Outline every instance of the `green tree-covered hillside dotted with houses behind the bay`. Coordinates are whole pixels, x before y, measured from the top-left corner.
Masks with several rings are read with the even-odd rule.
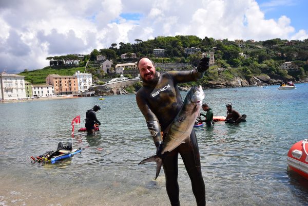
[[[194,35],[178,36],[158,36],[153,40],[136,43],[113,43],[109,48],[93,49],[81,60],[79,67],[63,66],[64,60],[75,60],[74,55],[60,57],[47,57],[51,67],[37,69],[34,71],[24,71],[20,75],[25,76],[25,80],[33,84],[45,83],[48,74],[73,75],[74,72],[92,73],[95,80],[107,78],[112,75],[114,67],[110,68],[110,73],[97,73],[99,67],[91,67],[97,55],[105,55],[113,62],[113,66],[118,63],[136,62],[138,58],[147,56],[154,62],[189,63],[196,66],[202,52],[215,52],[215,65],[211,66],[205,74],[201,83],[206,86],[209,81],[228,81],[234,77],[250,79],[252,76],[267,74],[271,78],[280,80],[302,80],[308,77],[308,39],[281,40],[273,39],[255,42],[252,40],[242,41],[243,46],[239,46],[236,41],[215,40],[213,38],[200,39]],[[185,53],[185,48],[196,47],[201,51],[196,54]],[[165,58],[157,58],[153,54],[153,49],[165,49]],[[121,54],[126,53],[128,59],[121,59]],[[137,58],[132,58],[136,54]],[[245,54],[248,58],[243,57]],[[89,62],[85,71],[85,62]],[[280,66],[284,62],[293,62],[298,69],[286,70]],[[160,70],[161,68],[158,68]],[[222,69],[222,70],[221,70]]]

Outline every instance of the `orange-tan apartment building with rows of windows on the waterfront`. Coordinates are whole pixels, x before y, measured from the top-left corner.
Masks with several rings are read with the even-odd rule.
[[[45,79],[46,84],[52,85],[54,95],[69,95],[78,93],[78,79],[75,76],[60,76],[49,74]]]

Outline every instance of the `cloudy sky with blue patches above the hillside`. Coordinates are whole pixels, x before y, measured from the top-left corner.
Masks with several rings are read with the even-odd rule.
[[[304,40],[307,8],[306,0],[0,0],[0,72],[156,36]]]

